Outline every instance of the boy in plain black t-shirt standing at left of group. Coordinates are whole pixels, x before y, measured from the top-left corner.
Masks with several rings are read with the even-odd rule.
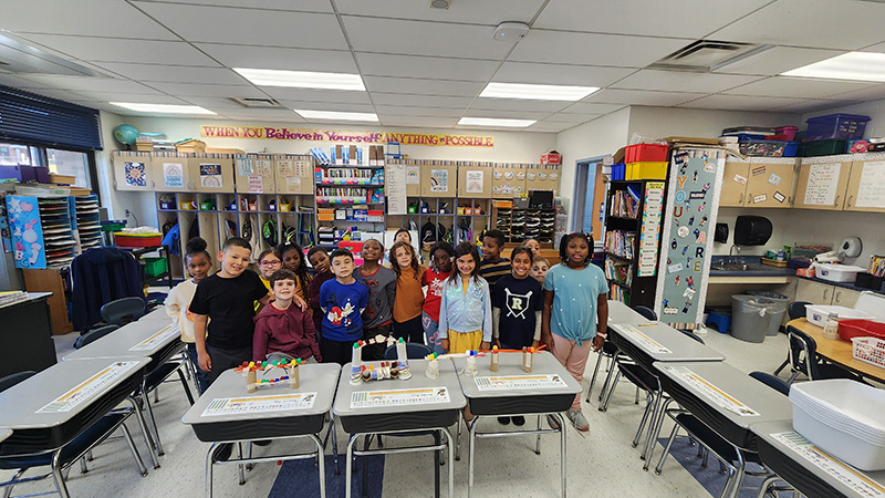
[[[209,373],[210,384],[223,371],[252,360],[254,301],[267,304],[269,294],[258,274],[246,268],[251,253],[252,247],[241,238],[225,241],[218,252],[221,270],[200,281],[190,302],[199,365]],[[301,298],[293,302],[306,309]]]

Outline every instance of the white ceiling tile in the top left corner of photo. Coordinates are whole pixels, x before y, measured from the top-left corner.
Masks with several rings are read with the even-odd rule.
[[[175,40],[175,34],[118,0],[3,1],[3,30],[13,33]]]

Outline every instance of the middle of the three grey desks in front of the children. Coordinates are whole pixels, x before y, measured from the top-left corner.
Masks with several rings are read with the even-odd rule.
[[[364,365],[375,366],[378,363],[363,362]],[[449,454],[449,498],[455,496],[455,454],[448,427],[459,421],[461,408],[467,403],[461,394],[455,366],[450,361],[439,361],[439,377],[428,378],[425,375],[427,361],[409,360],[408,364],[412,378],[407,381],[371,381],[357,385],[351,385],[350,363],[341,370],[339,392],[332,411],[341,421],[344,432],[351,435],[347,442],[347,481],[344,488],[346,498],[351,498],[354,455],[439,452],[447,448]],[[354,444],[360,436],[367,437],[373,434],[426,435],[430,432],[445,434],[446,442],[406,448],[375,450],[366,448],[363,452],[354,449]],[[438,495],[439,465],[436,465],[434,473]]]

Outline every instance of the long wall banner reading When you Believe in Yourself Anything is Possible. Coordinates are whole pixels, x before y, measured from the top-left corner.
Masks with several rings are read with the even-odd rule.
[[[493,136],[434,135],[424,133],[342,132],[337,129],[302,129],[275,126],[201,125],[202,138],[253,138],[269,141],[343,142],[347,144],[425,145],[430,147],[494,147]]]

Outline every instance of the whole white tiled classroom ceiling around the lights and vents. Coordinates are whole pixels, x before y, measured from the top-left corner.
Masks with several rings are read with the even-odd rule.
[[[0,84],[123,115],[110,102],[198,105],[299,124],[291,110],[377,114],[382,125],[467,128],[537,120],[561,132],[627,105],[803,113],[885,98],[885,84],[780,73],[885,52],[876,0],[4,0],[0,35],[96,73],[9,73]],[[834,21],[839,20],[835,24]],[[504,21],[530,25],[492,39]],[[767,50],[705,73],[649,69],[697,41]],[[365,92],[257,86],[232,68],[360,74]],[[580,102],[479,97],[489,82],[598,86]],[[274,98],[242,108],[225,97]],[[327,122],[325,122],[327,123]]]

